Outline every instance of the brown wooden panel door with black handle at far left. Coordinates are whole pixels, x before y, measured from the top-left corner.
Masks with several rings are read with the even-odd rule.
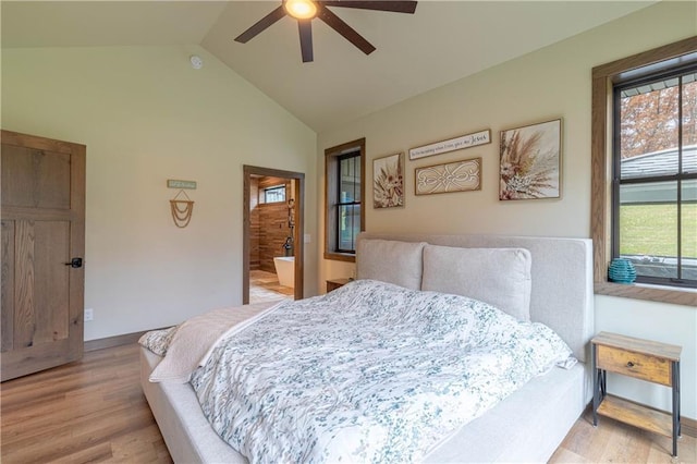
[[[82,357],[85,146],[1,135],[4,381]]]

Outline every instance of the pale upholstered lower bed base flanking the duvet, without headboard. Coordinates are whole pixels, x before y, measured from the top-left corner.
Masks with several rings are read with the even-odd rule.
[[[175,462],[247,462],[210,427],[189,383],[149,382],[162,358],[144,347],[140,358],[143,390]],[[588,370],[578,363],[533,379],[447,437],[425,462],[548,461],[588,404]]]

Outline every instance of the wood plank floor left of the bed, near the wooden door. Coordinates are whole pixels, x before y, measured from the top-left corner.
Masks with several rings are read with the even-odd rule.
[[[139,386],[138,345],[0,386],[0,461],[171,463]]]

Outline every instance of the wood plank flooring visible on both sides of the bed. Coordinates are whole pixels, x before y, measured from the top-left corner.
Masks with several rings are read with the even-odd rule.
[[[1,453],[14,463],[170,463],[139,384],[138,345],[88,352],[81,362],[0,387]],[[579,418],[551,463],[695,463],[695,438],[678,460],[669,438],[612,419]]]

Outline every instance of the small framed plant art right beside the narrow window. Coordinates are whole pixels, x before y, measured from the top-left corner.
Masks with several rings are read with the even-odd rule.
[[[404,206],[404,154],[372,160],[372,207]]]

